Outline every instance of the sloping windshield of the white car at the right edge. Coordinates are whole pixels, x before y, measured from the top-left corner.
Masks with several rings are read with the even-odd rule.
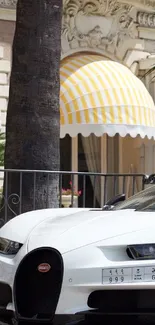
[[[155,211],[155,185],[147,187],[144,191],[136,193],[124,202],[116,205],[113,210],[134,209],[137,211]]]

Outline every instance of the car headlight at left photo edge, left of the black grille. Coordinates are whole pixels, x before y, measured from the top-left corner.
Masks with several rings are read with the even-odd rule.
[[[0,237],[0,253],[1,254],[16,255],[21,247],[22,247],[22,244],[20,244],[20,243]]]

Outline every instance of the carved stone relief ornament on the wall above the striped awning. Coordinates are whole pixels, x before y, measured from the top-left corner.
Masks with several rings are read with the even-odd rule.
[[[110,48],[137,37],[133,6],[115,0],[65,0],[62,53],[77,48]]]

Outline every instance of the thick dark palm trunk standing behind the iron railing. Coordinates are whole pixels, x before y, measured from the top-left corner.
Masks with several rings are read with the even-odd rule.
[[[61,18],[62,0],[18,0],[5,169],[59,170]],[[58,206],[58,175],[25,172],[21,180],[8,173],[6,186],[9,211],[15,211],[13,194],[20,195],[22,212]]]

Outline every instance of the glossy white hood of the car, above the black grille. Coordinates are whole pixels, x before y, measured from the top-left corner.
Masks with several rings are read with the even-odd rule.
[[[134,210],[82,210],[49,217],[31,231],[27,247],[58,249],[61,254],[95,243],[120,245],[155,242],[155,213]]]

